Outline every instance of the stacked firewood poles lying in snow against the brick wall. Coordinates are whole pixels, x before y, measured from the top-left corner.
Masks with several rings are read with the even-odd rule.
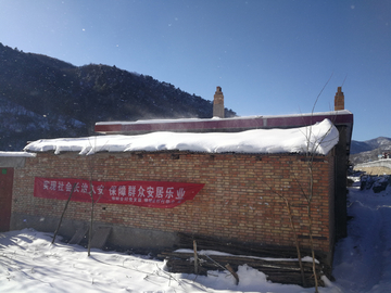
[[[210,270],[228,270],[237,279],[238,277],[235,275],[238,267],[248,265],[265,273],[267,280],[272,282],[299,284],[305,288],[315,285],[312,262],[303,262],[302,271],[294,250],[256,247],[188,234],[180,234],[179,237],[181,240],[180,249],[191,249],[192,251],[162,253],[160,256],[167,260],[167,268],[171,272],[206,275]],[[197,250],[194,250],[194,243],[197,243]],[[225,252],[226,254],[200,253],[200,251],[206,250]],[[323,275],[327,276],[330,268],[316,264],[316,271],[318,284],[323,285],[319,278]],[[240,280],[237,279],[237,282]]]

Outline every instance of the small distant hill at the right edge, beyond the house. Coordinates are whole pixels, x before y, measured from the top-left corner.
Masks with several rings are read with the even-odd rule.
[[[350,161],[360,164],[378,160],[383,152],[391,152],[391,138],[379,137],[367,141],[355,141],[351,143]]]

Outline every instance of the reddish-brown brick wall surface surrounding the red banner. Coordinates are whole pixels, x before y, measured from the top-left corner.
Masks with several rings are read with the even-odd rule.
[[[179,156],[177,156],[179,155]],[[315,157],[312,205],[315,249],[330,251],[329,207],[333,157]],[[97,204],[96,220],[168,232],[189,232],[247,242],[294,245],[286,204],[299,239],[308,246],[307,164],[303,156],[275,154],[99,153],[78,156],[39,153],[15,170],[12,212],[60,217],[64,202],[34,198],[34,178],[152,180],[205,183],[194,198],[175,208]],[[103,209],[105,207],[105,209]],[[333,207],[332,207],[333,208]],[[71,202],[66,218],[88,220],[90,204]],[[332,212],[332,211],[331,211]]]

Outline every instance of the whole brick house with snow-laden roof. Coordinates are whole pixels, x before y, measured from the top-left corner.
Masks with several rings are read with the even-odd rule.
[[[340,94],[339,89],[337,95]],[[218,95],[220,103],[222,97]],[[286,131],[279,132],[282,145],[287,140],[283,133],[303,135],[300,129],[306,129],[305,127],[325,118],[332,122],[338,135],[330,150],[313,156],[312,214],[314,246],[331,263],[336,239],[343,237],[346,226],[345,171],[353,127],[353,115],[349,111],[165,123],[98,123],[96,131],[106,135],[126,133],[135,140],[156,133],[161,133],[164,139],[164,133],[160,131],[185,132],[177,133],[179,137],[195,137],[197,132],[200,139],[211,136],[211,132],[218,132],[212,136],[219,136],[226,131],[230,138],[244,136],[245,141],[250,133],[247,130],[266,131],[265,129],[277,128],[279,131]],[[266,132],[256,133],[264,136]],[[87,182],[93,180],[97,183],[97,194],[98,183],[111,182],[112,187],[116,188],[115,192],[119,192],[119,187],[126,186],[125,195],[111,196],[114,202],[110,199],[106,202],[98,201],[94,207],[96,227],[110,227],[109,242],[116,245],[171,247],[178,243],[178,232],[184,232],[225,241],[290,247],[294,245],[290,220],[285,202],[278,195],[283,194],[289,198],[292,205],[300,245],[308,247],[308,219],[303,196],[303,189],[308,186],[306,153],[283,148],[274,152],[265,151],[266,149],[256,151],[255,146],[251,149],[251,145],[247,144],[245,148],[251,150],[245,152],[235,151],[235,145],[220,152],[213,151],[213,148],[192,150],[178,146],[184,145],[184,142],[163,149],[141,144],[138,148],[134,146],[140,143],[139,141],[127,142],[128,146],[134,149],[124,151],[118,149],[118,144],[110,144],[112,136],[99,138],[106,139],[106,142],[101,144],[103,146],[100,150],[96,149],[94,154],[87,156],[80,153],[86,154],[91,148],[77,149],[66,140],[38,141],[26,146],[26,150],[35,155],[24,157],[23,164],[13,168],[10,229],[31,227],[41,231],[54,231],[68,193],[64,192],[65,198],[61,199],[55,198],[56,195],[50,198],[50,194],[54,193],[41,196],[37,193],[37,182],[39,178],[55,182],[56,186],[52,187],[45,187],[43,183],[42,190],[46,188],[49,191],[59,189],[60,182],[66,183],[77,179]],[[156,138],[153,140],[156,141]],[[202,143],[200,145],[207,146]],[[130,201],[131,196],[130,196],[130,187],[140,184],[137,189],[146,190],[144,195],[148,198],[147,186],[155,184],[155,192],[163,182],[168,186],[172,182],[178,183],[177,194],[182,188],[180,183],[202,184],[202,189],[190,200],[169,208],[115,202],[116,199],[125,201],[126,198]],[[80,188],[81,183],[80,181]],[[174,184],[168,186],[166,190],[174,190]],[[81,190],[78,192],[83,193]],[[71,238],[76,230],[87,225],[91,203],[88,202],[88,193],[86,196],[87,200],[70,202],[61,234]]]

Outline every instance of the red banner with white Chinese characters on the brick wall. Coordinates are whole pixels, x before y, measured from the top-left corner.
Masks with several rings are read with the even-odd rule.
[[[164,181],[89,181],[72,178],[35,178],[34,196],[108,204],[168,208],[194,199],[204,184]]]

